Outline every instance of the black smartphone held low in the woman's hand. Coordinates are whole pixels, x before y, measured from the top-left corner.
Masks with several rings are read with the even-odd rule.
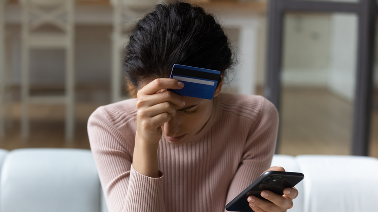
[[[252,182],[244,191],[237,195],[226,205],[227,211],[237,212],[253,212],[249,206],[247,198],[255,196],[265,199],[260,196],[263,190],[272,191],[278,195],[284,195],[285,188],[292,188],[298,182],[303,180],[304,175],[299,172],[287,171],[267,171],[262,174],[257,180]]]

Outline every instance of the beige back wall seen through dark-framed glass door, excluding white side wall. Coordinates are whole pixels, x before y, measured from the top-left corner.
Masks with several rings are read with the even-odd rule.
[[[329,15],[286,15],[283,38],[283,84],[327,85],[330,45]]]

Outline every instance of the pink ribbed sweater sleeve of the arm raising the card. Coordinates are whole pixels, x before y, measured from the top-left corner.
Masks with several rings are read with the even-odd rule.
[[[163,177],[150,178],[132,167],[135,133],[127,121],[133,120],[115,119],[120,123],[110,117],[99,107],[88,120],[91,150],[109,212],[163,212]]]

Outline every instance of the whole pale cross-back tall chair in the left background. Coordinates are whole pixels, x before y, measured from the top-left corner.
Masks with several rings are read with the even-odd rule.
[[[75,128],[74,72],[75,0],[22,0],[21,47],[21,136],[29,137],[30,104],[65,104],[65,137],[72,140]],[[46,30],[49,27],[49,30]],[[51,28],[54,28],[51,31]],[[65,49],[63,95],[32,96],[30,92],[30,50]],[[54,70],[52,70],[54,71]]]

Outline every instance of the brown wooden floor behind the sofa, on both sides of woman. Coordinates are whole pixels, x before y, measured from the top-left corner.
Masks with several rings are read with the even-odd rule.
[[[282,96],[281,143],[279,153],[350,154],[352,105],[329,91],[285,89]],[[86,124],[95,108],[105,103],[78,103],[76,134],[64,140],[64,106],[32,106],[29,140],[20,136],[20,106],[12,104],[10,124],[0,139],[0,148],[79,148],[89,149]],[[378,109],[372,113],[369,155],[378,157]]]

